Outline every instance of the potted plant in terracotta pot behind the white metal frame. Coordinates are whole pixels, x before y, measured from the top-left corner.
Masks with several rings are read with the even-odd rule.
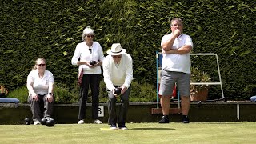
[[[210,75],[198,70],[197,67],[191,67],[190,82],[210,82]],[[190,85],[191,101],[206,101],[208,98],[209,85]]]

